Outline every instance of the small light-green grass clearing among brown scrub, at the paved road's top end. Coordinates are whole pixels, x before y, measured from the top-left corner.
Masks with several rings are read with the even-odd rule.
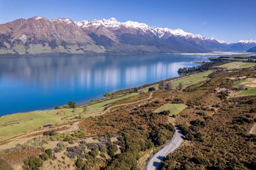
[[[162,107],[156,109],[154,112],[159,113],[159,112],[164,111],[164,110],[170,110],[169,122],[174,123],[171,116],[173,114],[174,115],[179,114],[186,107],[188,107],[188,106],[183,105],[183,104],[166,104],[166,105],[163,105]]]

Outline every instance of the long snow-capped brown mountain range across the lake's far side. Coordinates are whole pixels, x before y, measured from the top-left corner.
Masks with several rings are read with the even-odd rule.
[[[32,17],[0,24],[0,55],[65,55],[246,51],[256,41],[227,44],[182,29],[115,18],[73,21]]]

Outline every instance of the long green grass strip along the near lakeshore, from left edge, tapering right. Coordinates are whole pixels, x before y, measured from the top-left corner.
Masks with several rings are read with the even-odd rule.
[[[83,108],[75,109],[53,109],[43,111],[32,111],[26,113],[14,113],[0,117],[0,141],[18,136],[21,133],[37,129],[45,124],[65,123],[76,120],[74,115],[81,117],[95,116],[104,111],[105,105],[132,96],[139,93],[131,93],[122,97],[117,97],[108,101],[96,103],[87,106],[84,112]]]

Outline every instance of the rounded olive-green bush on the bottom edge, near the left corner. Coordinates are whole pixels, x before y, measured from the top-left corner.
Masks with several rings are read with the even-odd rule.
[[[22,166],[22,168],[25,170],[39,170],[42,166],[42,159],[37,158],[35,156],[31,156],[24,161],[24,165]]]

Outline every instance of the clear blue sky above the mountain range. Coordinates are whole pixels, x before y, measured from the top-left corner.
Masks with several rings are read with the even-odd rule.
[[[115,17],[224,40],[256,40],[256,0],[0,0],[0,23],[44,16]]]

